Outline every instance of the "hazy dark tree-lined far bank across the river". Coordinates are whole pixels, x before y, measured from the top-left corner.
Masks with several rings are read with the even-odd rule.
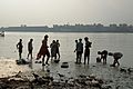
[[[94,24],[53,24],[48,26],[27,26],[20,27],[1,27],[0,31],[19,31],[19,32],[133,32],[133,26],[126,23],[103,26]]]

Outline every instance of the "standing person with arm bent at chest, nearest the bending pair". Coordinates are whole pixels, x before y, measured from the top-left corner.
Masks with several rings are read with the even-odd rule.
[[[84,65],[85,65],[86,58],[88,58],[88,65],[89,65],[89,61],[90,61],[90,48],[91,48],[92,42],[89,41],[88,37],[85,37],[84,40],[85,40]]]

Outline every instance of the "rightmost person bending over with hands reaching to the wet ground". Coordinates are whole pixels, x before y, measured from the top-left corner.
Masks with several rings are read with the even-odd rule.
[[[111,65],[111,67],[115,67],[115,65],[117,63],[117,66],[120,66],[119,59],[121,59],[123,57],[123,55],[121,52],[110,52],[109,56],[112,56],[114,58],[113,65]]]

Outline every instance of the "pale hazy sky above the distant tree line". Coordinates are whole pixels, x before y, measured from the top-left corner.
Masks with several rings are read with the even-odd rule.
[[[0,0],[0,26],[133,24],[133,0]]]

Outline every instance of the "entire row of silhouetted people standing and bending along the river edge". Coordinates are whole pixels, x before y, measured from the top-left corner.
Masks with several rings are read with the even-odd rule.
[[[60,43],[59,43],[59,40],[52,40],[52,43],[50,44],[50,48],[51,48],[51,55],[49,52],[49,46],[48,46],[48,38],[49,36],[45,34],[43,40],[42,40],[42,44],[41,44],[41,48],[37,55],[37,60],[40,59],[42,57],[42,66],[45,66],[48,65],[49,66],[49,59],[51,57],[51,59],[54,59],[54,60],[60,60],[60,50],[59,50],[59,47],[60,47]],[[33,58],[32,57],[32,50],[33,50],[33,46],[32,46],[32,41],[33,39],[30,39],[30,41],[28,42],[28,57],[27,59],[29,59],[29,56],[31,56],[31,59]],[[84,65],[88,61],[88,65],[90,62],[90,48],[92,46],[92,42],[89,40],[88,37],[84,38],[84,41],[85,41],[85,46],[84,46]],[[22,55],[22,39],[20,39],[20,41],[17,43],[17,49],[19,50],[19,59],[21,59],[21,55]],[[74,52],[76,52],[76,61],[75,63],[81,63],[81,60],[82,60],[82,53],[83,53],[83,42],[82,42],[82,39],[80,38],[79,40],[75,40],[75,50]],[[106,57],[108,55],[109,56],[112,56],[114,58],[114,62],[113,65],[111,65],[112,67],[115,67],[115,65],[117,63],[117,66],[120,66],[119,63],[119,59],[122,58],[122,53],[121,52],[109,52],[106,50],[103,50],[103,51],[98,51],[98,55],[100,55],[101,57],[98,57],[96,58],[96,62],[101,62],[101,60],[103,60],[103,63],[106,63]],[[44,62],[44,58],[47,56],[47,60]]]

